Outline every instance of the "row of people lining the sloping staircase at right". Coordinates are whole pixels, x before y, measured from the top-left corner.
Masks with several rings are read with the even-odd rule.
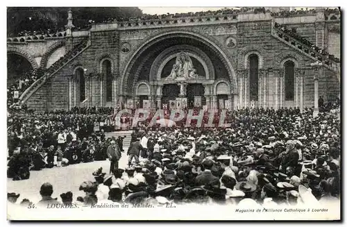
[[[333,60],[335,62],[340,62],[339,58],[336,58],[333,54],[328,53],[324,49],[321,49],[317,47],[315,44],[310,42],[309,40],[305,39],[298,33],[296,33],[296,28],[287,28],[287,26],[275,23],[275,27],[283,31],[284,33],[290,35],[291,37],[294,37],[294,39],[299,40],[301,43],[305,44],[307,47],[310,47],[313,51],[316,51],[317,53],[320,53],[321,55],[329,58],[330,60]],[[314,53],[311,53],[313,56]]]

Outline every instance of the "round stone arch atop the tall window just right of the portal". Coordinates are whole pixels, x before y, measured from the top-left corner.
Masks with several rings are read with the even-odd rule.
[[[250,45],[250,46],[242,48],[239,51],[239,55],[242,58],[242,60],[239,61],[239,64],[238,64],[239,69],[248,69],[248,57],[251,54],[256,54],[258,56],[259,69],[262,69],[264,67],[265,50],[257,45]]]

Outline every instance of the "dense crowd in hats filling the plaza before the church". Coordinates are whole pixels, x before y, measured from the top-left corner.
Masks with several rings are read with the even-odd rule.
[[[21,180],[28,178],[29,168],[53,167],[54,162],[60,167],[93,159],[111,161],[110,173],[98,169],[91,173],[94,181],[81,183],[84,197],[74,198],[67,192],[60,195],[60,202],[51,197],[51,183],[45,183],[37,203],[42,205],[255,206],[339,201],[340,121],[331,112],[320,112],[317,117],[312,112],[244,108],[232,111],[228,128],[136,128],[125,169],[118,166],[125,155],[121,138],[105,138],[101,128],[94,128],[102,115],[12,115],[8,174]],[[101,131],[99,136],[96,131]],[[8,193],[10,203],[18,204],[17,198],[18,194]],[[21,203],[31,202],[36,201]]]

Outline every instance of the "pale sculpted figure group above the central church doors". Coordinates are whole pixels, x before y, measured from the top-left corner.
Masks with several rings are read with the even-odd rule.
[[[175,80],[176,78],[188,79],[197,76],[192,59],[187,53],[180,52],[176,58],[175,64],[172,66],[170,75],[167,76],[167,80]]]

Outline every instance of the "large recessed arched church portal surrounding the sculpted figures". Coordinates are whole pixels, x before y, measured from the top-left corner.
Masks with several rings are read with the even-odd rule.
[[[172,53],[168,50],[172,50]],[[185,88],[183,88],[186,90],[185,94],[180,92],[182,89],[180,83],[167,81],[166,78],[181,52],[189,56],[196,69],[196,74],[203,74],[199,76],[204,77],[197,81],[180,81],[180,83],[185,83]],[[162,53],[166,55],[163,55],[163,59],[158,59]],[[153,91],[149,95],[149,101],[159,103],[152,107],[160,108],[162,104],[169,104],[170,100],[174,100],[178,96],[187,98],[189,107],[194,106],[195,96],[201,96],[201,106],[206,104],[212,107],[212,101],[217,101],[217,96],[213,92],[213,83],[217,79],[228,81],[229,87],[232,87],[231,94],[236,94],[237,85],[234,69],[226,54],[217,44],[203,35],[192,32],[167,32],[149,38],[133,53],[121,73],[122,86],[119,89],[119,96],[123,99],[129,96],[133,96],[135,100],[139,99],[139,97],[134,97],[133,88],[138,81],[146,81],[151,86],[150,90]],[[176,85],[172,85],[173,83]],[[168,91],[171,91],[172,94],[169,94]]]

